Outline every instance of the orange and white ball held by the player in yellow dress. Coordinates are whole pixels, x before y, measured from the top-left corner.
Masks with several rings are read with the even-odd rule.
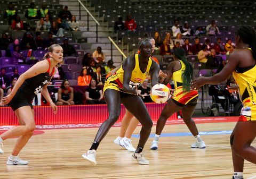
[[[150,97],[155,103],[165,103],[170,99],[171,94],[168,87],[164,84],[156,84],[150,91]]]

